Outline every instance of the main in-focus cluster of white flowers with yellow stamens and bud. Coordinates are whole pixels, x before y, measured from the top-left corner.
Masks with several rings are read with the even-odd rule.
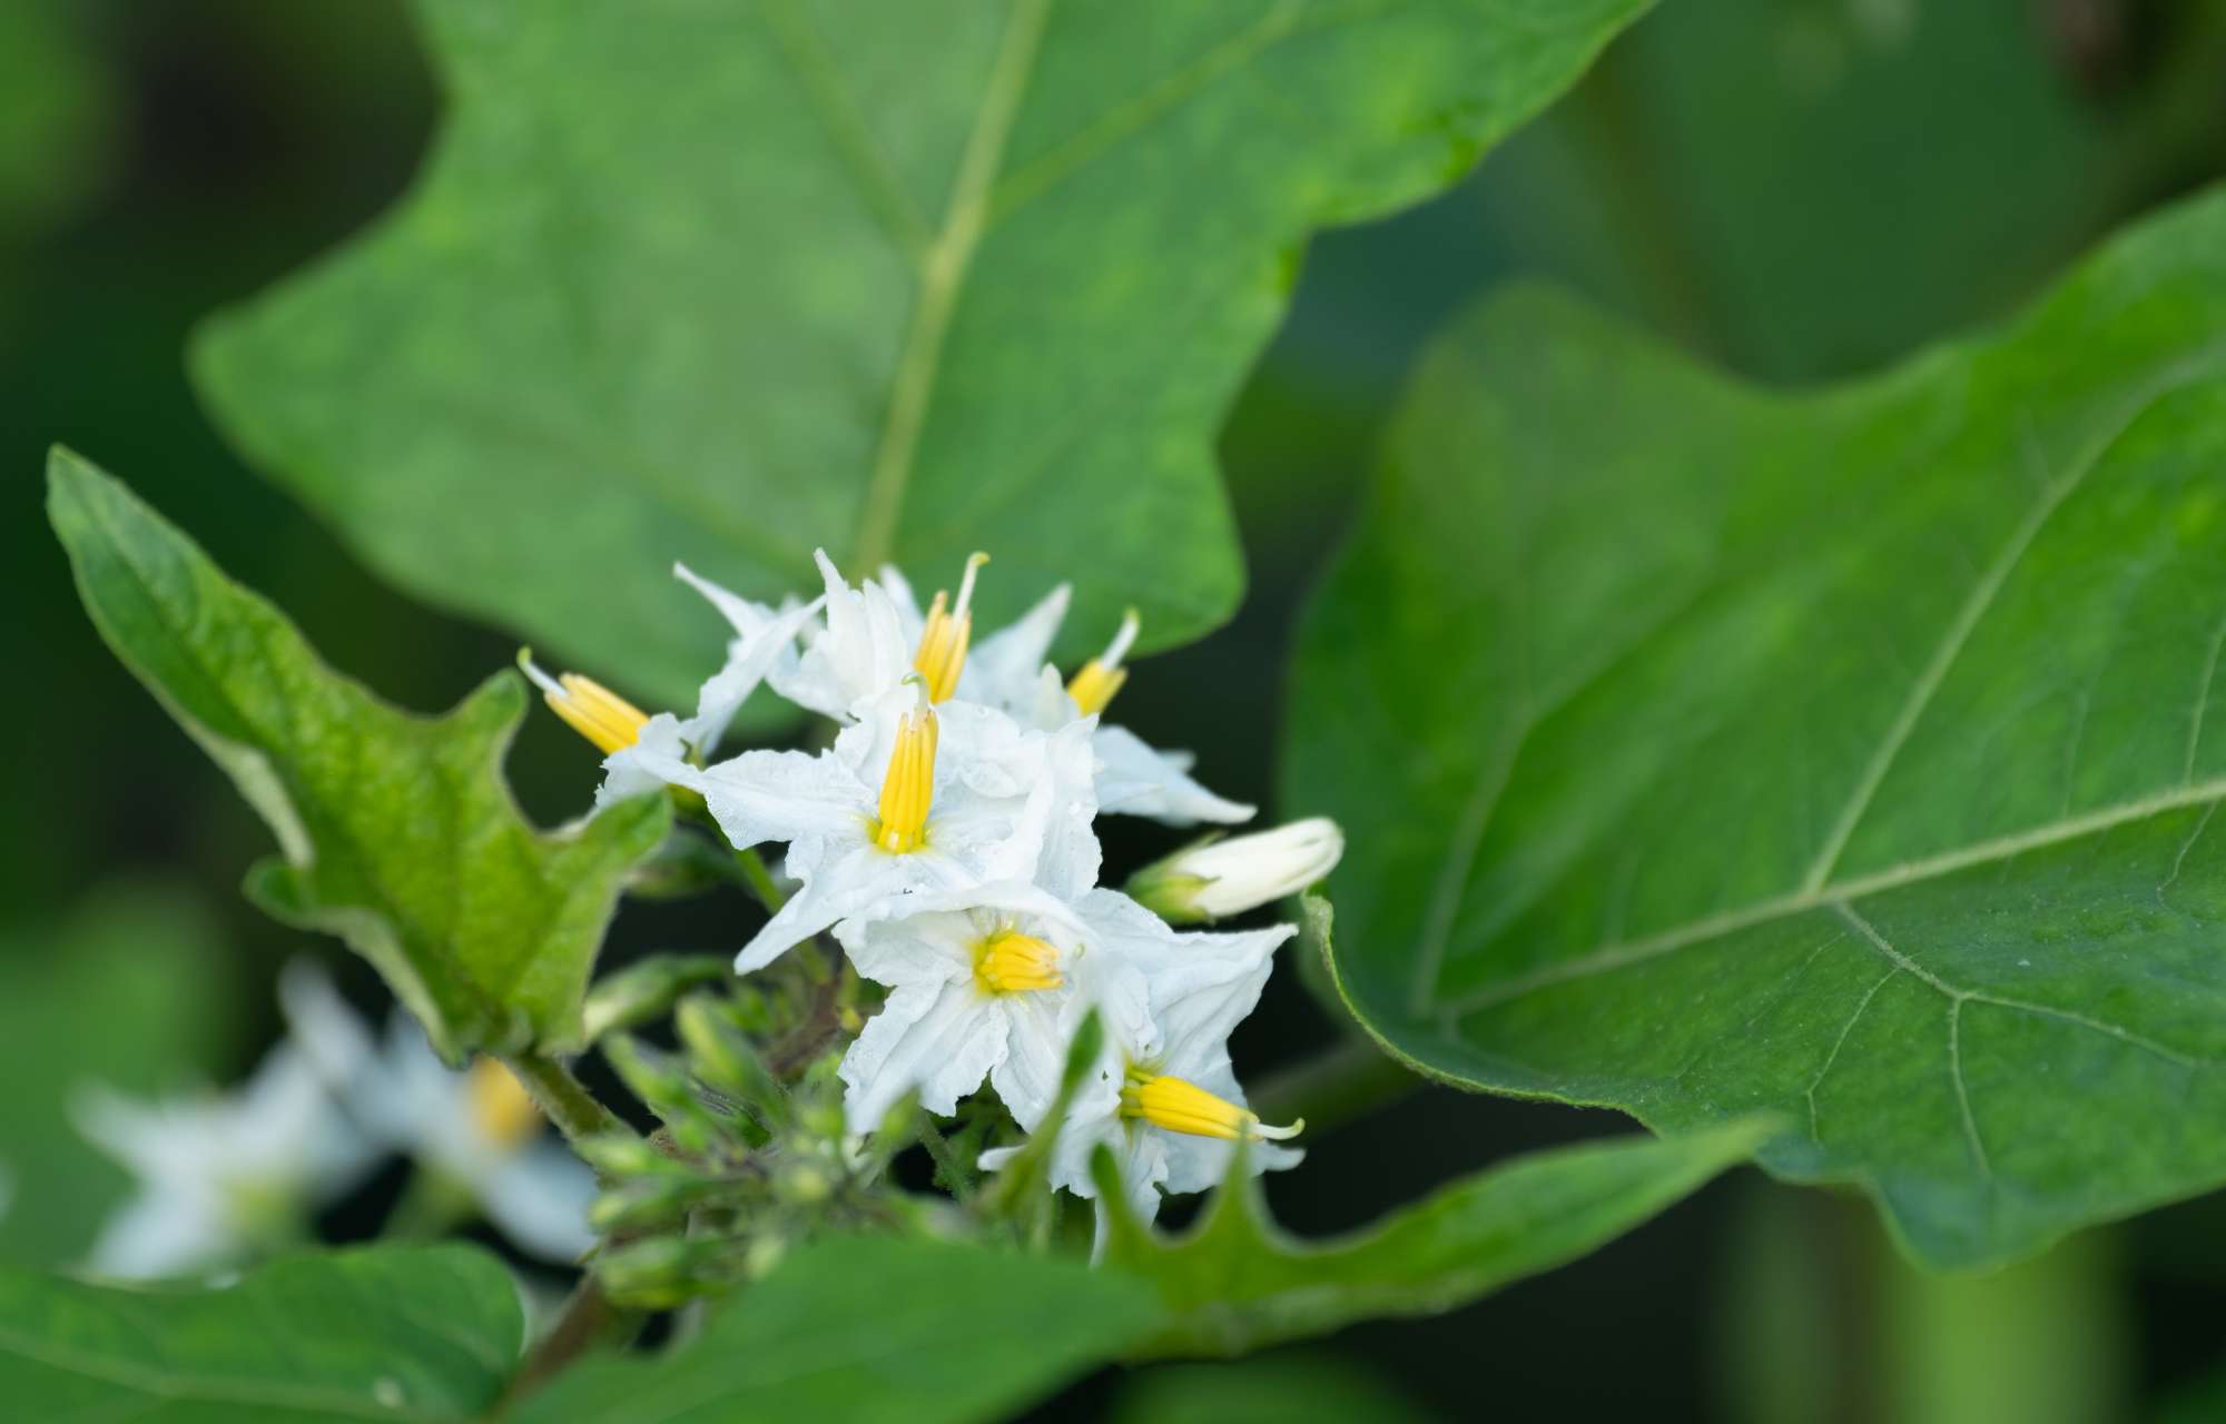
[[[690,719],[648,716],[588,679],[525,670],[605,752],[599,805],[677,788],[701,799],[735,850],[786,846],[792,894],[775,897],[735,968],[759,970],[833,934],[857,975],[884,986],[839,1066],[848,1130],[870,1135],[910,1095],[955,1112],[986,1081],[1022,1130],[1055,1133],[1055,1186],[1095,1197],[1089,1159],[1104,1144],[1144,1217],[1162,1193],[1220,1181],[1240,1139],[1255,1144],[1255,1170],[1293,1164],[1298,1150],[1278,1144],[1298,1124],[1262,1124],[1229,1064],[1229,1032],[1293,928],[1200,932],[1169,919],[1211,921],[1304,888],[1336,863],[1336,825],[1178,852],[1140,872],[1135,894],[1100,886],[1100,814],[1169,825],[1253,814],[1200,785],[1189,754],[1106,721],[1137,616],[1062,679],[1048,652],[1064,585],[977,643],[986,556],[966,563],[955,599],[937,592],[926,607],[895,570],[853,585],[826,554],[817,561],[824,592],[777,610],[677,570],[735,630]],[[830,719],[830,745],[715,761],[759,683]],[[1046,1121],[1093,1010],[1104,1055],[1064,1121]],[[991,1150],[982,1166],[1015,1150]]]

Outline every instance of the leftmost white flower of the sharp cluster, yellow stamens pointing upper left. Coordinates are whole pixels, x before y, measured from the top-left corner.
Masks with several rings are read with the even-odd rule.
[[[739,594],[730,594],[710,578],[674,563],[672,572],[692,590],[710,599],[735,636],[726,645],[726,663],[697,692],[695,716],[672,712],[646,714],[610,688],[577,672],[550,676],[534,665],[532,652],[519,652],[519,668],[541,688],[543,701],[572,730],[592,741],[603,752],[603,785],[594,792],[597,810],[626,797],[659,790],[666,783],[657,765],[668,761],[701,761],[719,748],[728,723],[741,703],[757,692],[757,685],[775,668],[797,663],[797,634],[819,612],[819,599],[784,607],[766,607]]]

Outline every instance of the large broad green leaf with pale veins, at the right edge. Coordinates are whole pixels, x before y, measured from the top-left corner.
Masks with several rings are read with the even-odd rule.
[[[1534,294],[1311,607],[1333,968],[1447,1081],[1754,1110],[1934,1264],[2226,1181],[2226,194],[1765,394]]]

